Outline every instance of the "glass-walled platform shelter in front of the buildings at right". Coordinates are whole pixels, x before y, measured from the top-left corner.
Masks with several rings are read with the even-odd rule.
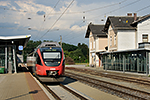
[[[103,52],[100,55],[105,70],[150,74],[150,49]]]

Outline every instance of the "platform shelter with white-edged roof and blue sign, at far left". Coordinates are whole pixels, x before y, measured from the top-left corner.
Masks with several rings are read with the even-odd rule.
[[[17,73],[17,51],[26,47],[31,35],[0,36],[0,68],[5,73]]]

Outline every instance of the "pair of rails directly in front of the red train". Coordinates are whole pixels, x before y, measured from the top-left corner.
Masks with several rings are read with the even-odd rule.
[[[48,92],[56,99],[56,100],[66,100],[64,99],[64,96],[60,96],[59,93],[55,92],[53,89],[51,89],[51,86],[47,85],[47,84],[43,84],[43,86],[48,90]],[[64,90],[63,91],[68,91],[69,93],[71,93],[72,95],[74,95],[75,97],[77,97],[77,100],[88,100],[87,98],[85,98],[84,96],[80,95],[79,93],[73,91],[72,89],[66,87],[63,84],[59,84],[59,87],[62,87]],[[62,91],[61,91],[62,94]],[[63,95],[63,94],[62,94]],[[69,97],[69,95],[67,95],[67,97]],[[67,98],[68,99],[68,98]],[[71,97],[70,97],[71,99]],[[69,99],[68,99],[69,100]],[[76,99],[74,99],[76,100]]]

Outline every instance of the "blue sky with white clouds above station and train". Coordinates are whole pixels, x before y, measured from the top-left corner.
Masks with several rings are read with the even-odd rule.
[[[150,0],[0,0],[0,36],[31,35],[77,45],[89,23],[105,24],[108,16],[150,14]]]

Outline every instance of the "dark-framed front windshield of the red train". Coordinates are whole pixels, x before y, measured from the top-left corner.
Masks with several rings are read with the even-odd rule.
[[[43,48],[42,57],[46,66],[59,66],[61,63],[61,49]]]

